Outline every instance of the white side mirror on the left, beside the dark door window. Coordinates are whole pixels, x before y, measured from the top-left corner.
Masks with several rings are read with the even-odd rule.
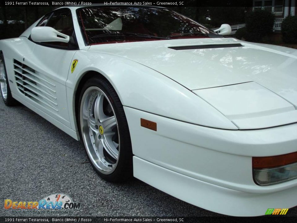
[[[32,28],[31,39],[35,42],[69,42],[69,36],[60,33],[49,26]]]

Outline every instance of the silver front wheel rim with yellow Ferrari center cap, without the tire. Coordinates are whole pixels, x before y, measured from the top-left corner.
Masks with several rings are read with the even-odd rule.
[[[106,94],[89,87],[81,100],[80,127],[88,156],[103,174],[110,174],[118,164],[120,138],[114,109]]]

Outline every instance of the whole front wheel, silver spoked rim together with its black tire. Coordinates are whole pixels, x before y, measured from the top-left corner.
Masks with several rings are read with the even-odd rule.
[[[109,181],[132,175],[131,139],[123,105],[110,83],[88,80],[80,95],[79,124],[88,158]]]

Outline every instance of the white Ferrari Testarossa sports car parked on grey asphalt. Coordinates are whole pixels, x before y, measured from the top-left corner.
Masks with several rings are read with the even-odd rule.
[[[83,140],[108,181],[227,215],[291,208],[297,50],[218,32],[162,7],[59,8],[0,41],[2,98]]]

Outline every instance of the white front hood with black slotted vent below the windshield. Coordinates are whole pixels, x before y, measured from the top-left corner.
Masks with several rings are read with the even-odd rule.
[[[284,112],[296,112],[297,50],[234,38],[102,44],[93,45],[89,50],[118,55],[162,73],[217,108],[239,129],[266,128],[297,121],[297,113],[291,119],[271,117],[276,114],[284,116]],[[230,85],[238,86],[227,88]],[[221,94],[222,89],[224,94]],[[226,93],[230,92],[228,89],[232,89],[233,94],[245,94],[230,98],[230,94]],[[249,100],[248,92],[253,92],[253,97],[261,99],[257,103]],[[216,95],[219,102],[209,95]],[[242,103],[238,103],[239,97],[245,98]],[[234,105],[230,106],[230,103]],[[264,110],[259,108],[261,103],[267,105]],[[247,105],[245,111],[239,109],[243,105]],[[254,109],[248,109],[250,107]],[[270,119],[253,120],[255,125],[248,120],[263,116],[270,116]],[[246,118],[242,122],[241,119]],[[260,122],[263,124],[258,125]]]

